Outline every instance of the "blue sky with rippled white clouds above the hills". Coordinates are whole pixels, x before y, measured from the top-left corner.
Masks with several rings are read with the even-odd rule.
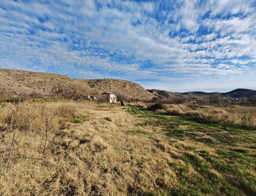
[[[256,90],[256,0],[0,0],[0,68]]]

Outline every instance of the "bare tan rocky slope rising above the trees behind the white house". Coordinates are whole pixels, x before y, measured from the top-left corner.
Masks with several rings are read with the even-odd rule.
[[[154,95],[137,83],[118,79],[77,79],[67,75],[0,69],[0,87],[17,93],[32,91],[52,94],[53,86],[76,87],[82,95],[96,92],[125,92],[133,98],[151,99]]]

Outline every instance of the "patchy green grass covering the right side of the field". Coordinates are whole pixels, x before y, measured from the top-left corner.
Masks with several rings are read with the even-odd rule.
[[[138,130],[140,126],[160,127],[170,138],[194,143],[184,148],[174,145],[184,152],[181,157],[174,156],[174,161],[168,161],[180,183],[172,195],[256,195],[255,131],[182,116],[170,117],[136,106],[131,106],[128,112],[143,118],[136,125]],[[145,134],[138,130],[132,134]],[[197,151],[197,144],[207,150]],[[180,159],[184,164],[178,164]]]

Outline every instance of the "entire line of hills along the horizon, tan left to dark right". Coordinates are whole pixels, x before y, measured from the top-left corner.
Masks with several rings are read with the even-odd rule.
[[[172,96],[184,96],[202,98],[217,92],[170,92],[166,90],[147,89],[145,90],[140,84],[121,80],[121,79],[78,79],[71,78],[67,75],[45,72],[31,72],[16,69],[0,69],[0,86],[5,86],[17,93],[38,91],[43,94],[52,93],[54,85],[78,86],[82,94],[95,94],[96,92],[118,92],[125,91],[132,98],[151,99],[169,98]],[[230,92],[220,93],[222,96],[231,98],[244,98],[256,95],[256,90],[252,89],[234,89]]]

